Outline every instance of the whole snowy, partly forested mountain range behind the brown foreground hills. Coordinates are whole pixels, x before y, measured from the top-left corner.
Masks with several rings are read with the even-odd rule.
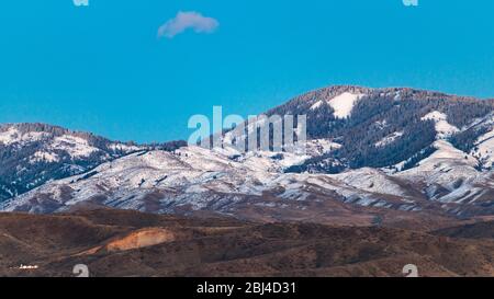
[[[345,85],[266,114],[306,115],[306,152],[141,146],[2,125],[0,210],[111,207],[419,229],[494,215],[493,100]]]

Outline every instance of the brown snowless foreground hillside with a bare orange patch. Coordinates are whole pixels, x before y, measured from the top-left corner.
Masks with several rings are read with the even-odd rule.
[[[494,242],[378,227],[92,210],[0,214],[0,276],[492,276]],[[20,265],[36,266],[21,269]]]

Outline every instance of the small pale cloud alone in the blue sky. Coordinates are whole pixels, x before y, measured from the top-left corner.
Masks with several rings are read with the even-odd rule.
[[[220,23],[213,18],[203,16],[194,11],[180,11],[176,18],[159,27],[158,37],[173,38],[189,28],[197,33],[213,33],[218,26]]]

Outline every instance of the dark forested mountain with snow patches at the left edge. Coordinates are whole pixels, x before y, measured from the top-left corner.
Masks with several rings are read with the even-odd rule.
[[[44,124],[1,125],[0,202],[141,149]]]

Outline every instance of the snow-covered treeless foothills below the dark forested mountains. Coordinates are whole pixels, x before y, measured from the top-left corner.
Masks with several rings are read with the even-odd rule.
[[[317,150],[316,140],[311,145],[313,152]],[[0,208],[53,212],[92,203],[153,212],[212,209],[231,214],[237,203],[249,197],[265,199],[252,205],[293,208],[294,202],[321,200],[316,195],[323,194],[326,200],[417,211],[426,208],[424,199],[442,203],[447,210],[457,208],[454,204],[486,199],[490,175],[478,172],[473,159],[464,159],[447,141],[437,146],[419,166],[393,175],[368,168],[340,174],[283,173],[283,169],[308,158],[291,153],[242,156],[195,146],[173,152],[143,151],[103,163],[89,173],[50,182],[2,203]]]

